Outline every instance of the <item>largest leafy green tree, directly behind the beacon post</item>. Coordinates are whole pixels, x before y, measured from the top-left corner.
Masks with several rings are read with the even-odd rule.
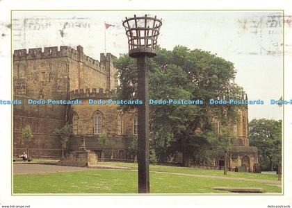
[[[115,60],[120,87],[117,97],[137,98],[136,60],[122,55]],[[222,123],[237,119],[236,105],[209,105],[213,98],[242,98],[243,89],[234,83],[232,62],[199,49],[175,46],[172,51],[158,49],[150,62],[149,98],[154,100],[202,100],[202,105],[150,105],[150,131],[159,161],[177,152],[183,153],[184,166],[198,150],[206,147],[206,133],[211,130],[211,117],[216,114]],[[122,105],[136,109],[136,105]]]

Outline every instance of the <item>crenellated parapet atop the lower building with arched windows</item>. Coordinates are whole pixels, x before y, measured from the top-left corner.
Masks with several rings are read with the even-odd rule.
[[[84,89],[76,89],[70,92],[70,100],[85,98],[111,98],[111,96],[113,96],[115,93],[115,90],[104,90],[102,88],[87,88],[85,91]]]

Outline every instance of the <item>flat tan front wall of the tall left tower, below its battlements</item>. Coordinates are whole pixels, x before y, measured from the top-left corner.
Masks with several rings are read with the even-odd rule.
[[[69,92],[67,58],[15,60],[15,95],[35,99],[67,99]]]

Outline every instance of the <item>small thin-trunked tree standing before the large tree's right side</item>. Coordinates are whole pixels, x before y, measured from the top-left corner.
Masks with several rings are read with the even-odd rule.
[[[227,175],[227,164],[235,139],[228,127],[221,127],[218,133],[213,131],[208,134],[213,156],[224,157],[224,175]]]

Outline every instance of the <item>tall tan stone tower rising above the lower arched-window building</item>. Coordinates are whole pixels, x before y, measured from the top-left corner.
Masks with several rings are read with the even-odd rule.
[[[75,89],[115,89],[114,55],[102,53],[100,62],[69,46],[15,50],[13,89],[15,95],[31,98],[66,99]],[[46,96],[46,97],[45,97]]]

